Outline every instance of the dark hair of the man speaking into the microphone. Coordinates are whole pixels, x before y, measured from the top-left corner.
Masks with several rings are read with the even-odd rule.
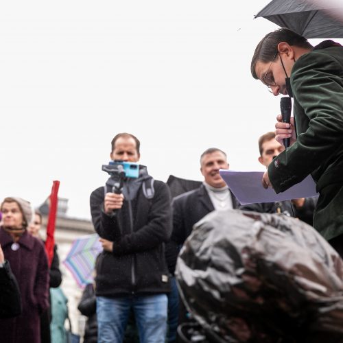
[[[254,56],[252,56],[250,71],[253,78],[258,79],[255,71],[257,62],[272,62],[276,57],[278,45],[281,42],[286,42],[289,45],[295,45],[296,47],[303,47],[305,49],[312,48],[312,45],[309,44],[305,37],[300,36],[300,34],[285,27],[266,34],[257,45]]]

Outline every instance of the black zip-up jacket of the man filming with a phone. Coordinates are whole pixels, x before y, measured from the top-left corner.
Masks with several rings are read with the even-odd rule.
[[[151,178],[150,176],[145,177]],[[124,187],[132,188],[132,179]],[[91,215],[100,237],[113,241],[113,252],[97,261],[97,296],[162,294],[169,292],[164,242],[171,234],[171,198],[167,185],[154,180],[154,197],[142,185],[132,200],[113,215],[104,213],[104,187],[91,193]]]

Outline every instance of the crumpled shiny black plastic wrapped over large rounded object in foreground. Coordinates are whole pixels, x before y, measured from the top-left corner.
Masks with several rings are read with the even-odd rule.
[[[176,266],[182,298],[218,342],[343,342],[343,261],[292,217],[213,211]]]

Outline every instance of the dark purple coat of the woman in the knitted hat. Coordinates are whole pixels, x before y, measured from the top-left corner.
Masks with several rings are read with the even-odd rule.
[[[21,316],[0,320],[0,341],[40,343],[40,313],[47,309],[49,270],[43,242],[25,231],[18,250],[12,250],[12,237],[0,228],[0,244],[10,262],[21,291]]]

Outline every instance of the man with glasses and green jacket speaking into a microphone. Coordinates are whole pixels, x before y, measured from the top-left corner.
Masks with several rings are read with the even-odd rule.
[[[276,193],[311,174],[320,193],[314,227],[343,256],[343,47],[316,47],[289,29],[267,34],[252,57],[251,73],[274,95],[294,97],[290,125],[277,117],[276,140],[290,138],[263,175]]]

